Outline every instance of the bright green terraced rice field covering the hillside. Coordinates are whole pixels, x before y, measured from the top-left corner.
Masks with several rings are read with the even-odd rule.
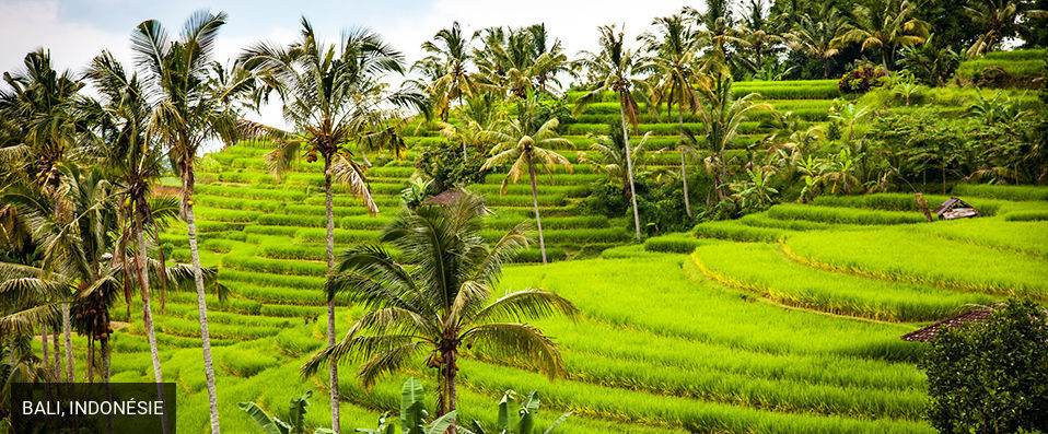
[[[835,96],[825,83],[807,86],[761,92],[781,98],[772,104],[797,109],[810,101],[828,106],[824,101]],[[604,116],[596,107],[584,116]],[[604,118],[573,127],[595,130],[597,119]],[[431,133],[420,132],[412,143],[435,140],[421,136]],[[561,151],[577,157],[577,150]],[[220,281],[234,293],[226,303],[208,297],[219,409],[223,429],[233,433],[255,430],[236,402],[282,413],[289,399],[327,387],[323,376],[302,378],[296,371],[323,345],[326,327],[323,178],[317,164],[303,163],[278,184],[264,169],[265,152],[243,144],[213,154],[218,165],[199,175],[196,196],[201,259],[219,267]],[[373,239],[388,222],[414,172],[408,164],[369,171],[377,218],[337,190],[337,249]],[[931,433],[921,419],[921,344],[899,336],[967,304],[1013,293],[1048,300],[1048,222],[1037,219],[1048,213],[1048,201],[1036,196],[1045,189],[971,188],[965,198],[988,216],[966,222],[922,223],[909,195],[824,198],[641,246],[629,245],[625,220],[577,212],[603,175],[579,166],[554,178],[554,186],[539,187],[539,201],[558,262],[510,266],[501,285],[544,288],[579,306],[575,321],[535,324],[560,343],[569,375],[551,382],[470,354],[459,372],[464,420],[494,422],[502,391],[535,389],[542,425],[574,411],[559,433]],[[500,180],[494,174],[471,187],[496,211],[489,238],[531,219],[527,189],[511,187],[500,197]],[[162,241],[174,247],[175,260],[188,259],[184,227],[168,228]],[[950,256],[932,258],[943,251]],[[536,261],[537,251],[522,259]],[[340,306],[341,333],[361,310]],[[206,432],[195,295],[171,291],[166,308],[154,303],[154,310],[164,376],[179,389],[179,432]],[[113,345],[114,380],[151,376],[140,322],[117,333]],[[434,389],[433,373],[421,363],[371,390],[359,386],[353,371],[340,371],[347,431],[372,427],[379,414],[395,409],[408,375]],[[306,424],[328,424],[327,408],[326,394],[315,392]]]

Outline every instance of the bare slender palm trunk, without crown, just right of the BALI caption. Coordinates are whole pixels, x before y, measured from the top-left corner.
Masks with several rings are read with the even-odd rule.
[[[200,270],[200,251],[197,249],[197,224],[193,216],[193,166],[186,167],[182,180],[183,206],[186,209],[186,225],[189,234],[189,257],[193,259],[193,280],[197,285],[197,310],[200,318],[200,342],[203,348],[203,376],[208,383],[208,403],[211,407],[211,434],[220,434],[219,403],[214,390],[214,366],[211,364],[211,333],[208,332],[208,304],[203,297],[203,271]]]

